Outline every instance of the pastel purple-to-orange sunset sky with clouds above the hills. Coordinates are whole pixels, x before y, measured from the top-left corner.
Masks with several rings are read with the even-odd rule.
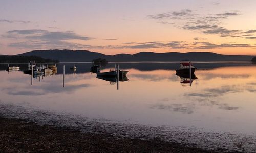
[[[256,55],[255,6],[254,0],[0,0],[0,54],[73,49]]]

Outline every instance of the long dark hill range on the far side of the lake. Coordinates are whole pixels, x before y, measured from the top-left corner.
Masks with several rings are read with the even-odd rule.
[[[247,55],[222,55],[212,52],[140,52],[136,54],[105,55],[88,50],[34,50],[19,54],[19,56],[40,56],[46,59],[56,59],[60,62],[91,62],[93,59],[102,58],[109,62],[124,61],[250,61],[254,56]]]

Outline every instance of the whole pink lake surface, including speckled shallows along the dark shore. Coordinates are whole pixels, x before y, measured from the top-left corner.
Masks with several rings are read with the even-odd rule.
[[[204,148],[256,151],[256,65],[195,63],[194,79],[176,75],[179,63],[119,63],[126,80],[100,79],[91,63],[57,64],[32,78],[0,71],[1,114],[81,131],[194,143]],[[46,64],[45,64],[46,65]],[[49,64],[50,65],[50,64]],[[63,65],[65,79],[63,85]],[[114,63],[102,71],[114,68]],[[64,87],[63,87],[64,86]],[[118,89],[118,90],[117,90]]]

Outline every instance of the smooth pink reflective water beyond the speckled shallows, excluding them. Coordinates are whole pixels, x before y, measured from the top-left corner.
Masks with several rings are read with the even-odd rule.
[[[177,63],[120,63],[129,80],[120,81],[119,90],[90,73],[87,63],[76,64],[76,72],[66,63],[63,87],[57,66],[56,74],[33,78],[33,85],[23,71],[0,71],[0,103],[109,122],[256,134],[256,65],[195,63],[198,79],[190,86],[176,75]]]

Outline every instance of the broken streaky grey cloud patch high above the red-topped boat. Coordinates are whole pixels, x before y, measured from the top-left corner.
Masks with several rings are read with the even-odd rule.
[[[186,9],[182,11],[174,11],[149,15],[151,19],[157,19],[158,23],[168,24],[170,20],[178,20],[178,27],[185,30],[196,30],[204,34],[218,34],[221,37],[233,36],[242,30],[229,30],[221,26],[221,21],[232,16],[240,15],[239,11],[224,12],[218,14],[199,15],[193,11]]]

